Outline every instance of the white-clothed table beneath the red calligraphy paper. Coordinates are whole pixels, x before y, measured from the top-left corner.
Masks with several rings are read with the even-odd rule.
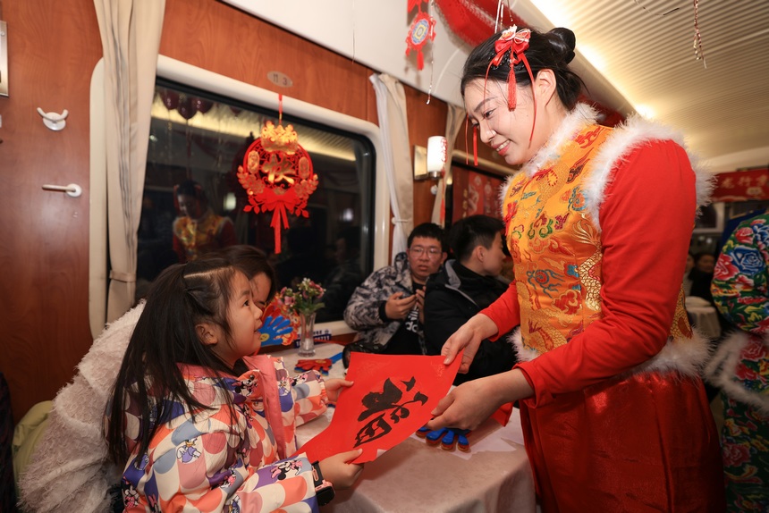
[[[342,350],[333,343],[316,345],[317,358],[332,357]],[[296,350],[282,351],[292,372],[299,357]],[[342,377],[342,361],[334,363],[329,376]],[[326,416],[300,426],[299,442],[307,442],[328,425]],[[425,511],[430,513],[528,512],[536,510],[534,481],[523,448],[520,416],[513,409],[503,427],[493,420],[469,435],[469,453],[442,450],[411,436],[365,465],[351,490],[337,492],[324,511],[336,513]]]

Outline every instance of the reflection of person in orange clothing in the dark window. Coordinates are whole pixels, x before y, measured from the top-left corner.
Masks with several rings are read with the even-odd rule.
[[[238,243],[232,220],[215,214],[197,181],[182,181],[173,188],[173,194],[180,213],[173,222],[173,250],[179,262],[191,262]]]

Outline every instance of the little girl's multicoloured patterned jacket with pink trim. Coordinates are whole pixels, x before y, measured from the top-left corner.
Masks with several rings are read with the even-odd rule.
[[[210,409],[195,411],[193,420],[182,404],[174,405],[172,420],[158,427],[142,458],[136,454],[138,408],[128,405],[133,452],[123,472],[126,511],[317,511],[308,459],[281,458],[296,450],[296,427],[325,412],[325,383],[314,371],[290,377],[283,358],[256,358],[243,358],[254,370],[225,376],[224,388],[208,369],[181,366],[194,397]],[[270,364],[275,373],[265,368]],[[264,386],[275,387],[273,380],[277,393],[263,393]],[[266,420],[275,416],[283,418],[283,433],[274,432],[278,422]]]

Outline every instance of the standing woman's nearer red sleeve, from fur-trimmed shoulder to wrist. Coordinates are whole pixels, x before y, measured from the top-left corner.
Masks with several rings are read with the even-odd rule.
[[[531,407],[654,357],[668,338],[697,208],[684,150],[655,141],[613,172],[600,209],[603,318],[569,343],[520,364]]]

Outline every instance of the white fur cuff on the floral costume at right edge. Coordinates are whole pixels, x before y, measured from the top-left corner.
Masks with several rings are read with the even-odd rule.
[[[737,366],[740,363],[740,353],[750,342],[747,332],[732,332],[723,340],[713,359],[706,366],[707,381],[721,388],[731,399],[739,400],[748,406],[756,408],[762,415],[769,415],[769,394],[764,391],[746,389],[736,377]],[[769,348],[769,335],[764,338],[764,345]]]

